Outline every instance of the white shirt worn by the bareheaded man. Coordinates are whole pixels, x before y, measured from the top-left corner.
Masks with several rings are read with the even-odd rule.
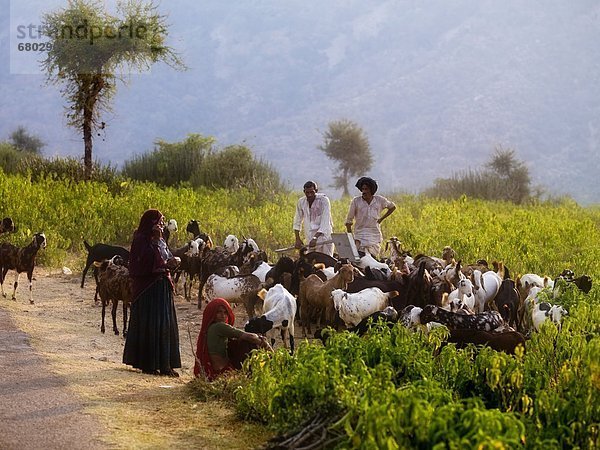
[[[293,228],[298,231],[304,229],[307,244],[318,232],[323,235],[319,237],[319,241],[331,240],[333,221],[331,219],[331,204],[327,196],[317,193],[311,206],[308,205],[306,197],[301,197],[296,204]],[[316,251],[333,255],[333,244],[318,245],[318,242]]]

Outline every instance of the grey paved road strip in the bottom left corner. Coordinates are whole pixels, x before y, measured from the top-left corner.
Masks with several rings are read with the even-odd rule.
[[[0,448],[100,449],[104,427],[0,308]]]

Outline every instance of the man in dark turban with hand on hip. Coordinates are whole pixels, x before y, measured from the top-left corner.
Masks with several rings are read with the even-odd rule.
[[[377,182],[369,177],[361,177],[356,182],[356,187],[361,191],[360,197],[354,197],[350,203],[348,216],[346,217],[346,230],[352,233],[352,223],[356,220],[354,227],[354,240],[356,247],[361,252],[368,252],[373,257],[379,255],[381,250],[381,222],[396,209],[394,202],[377,192]],[[382,216],[381,212],[386,210]]]

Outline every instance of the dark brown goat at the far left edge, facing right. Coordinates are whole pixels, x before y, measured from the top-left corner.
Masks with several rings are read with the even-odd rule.
[[[4,280],[9,270],[16,272],[15,284],[13,287],[12,299],[16,300],[17,286],[19,285],[19,276],[21,272],[27,273],[29,280],[29,303],[33,303],[32,277],[35,266],[35,256],[40,248],[46,248],[46,235],[36,233],[33,240],[26,247],[16,247],[13,244],[3,243],[0,245],[0,290],[2,296],[6,297],[4,292]]]

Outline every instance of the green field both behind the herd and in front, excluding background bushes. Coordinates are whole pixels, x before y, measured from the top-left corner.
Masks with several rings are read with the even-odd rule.
[[[123,183],[45,181],[0,174],[2,217],[18,229],[3,242],[26,245],[44,231],[39,263],[81,270],[83,239],[128,246],[142,212],[159,208],[178,221],[175,238],[197,219],[216,243],[227,234],[254,238],[274,260],[290,245],[300,195],[265,199],[249,191],[162,189]],[[569,308],[560,332],[549,324],[517,357],[489,349],[439,351],[440,333],[398,326],[366,338],[340,333],[328,347],[302,343],[257,354],[251,378],[236,392],[239,413],[278,432],[313,417],[333,420],[331,445],[343,448],[594,448],[600,444],[600,208],[575,203],[515,206],[463,198],[393,197],[383,223],[412,254],[441,256],[452,246],[464,262],[503,261],[513,277],[556,276],[565,268],[594,280],[585,295],[568,289],[553,300]],[[343,231],[348,201],[332,202]]]

